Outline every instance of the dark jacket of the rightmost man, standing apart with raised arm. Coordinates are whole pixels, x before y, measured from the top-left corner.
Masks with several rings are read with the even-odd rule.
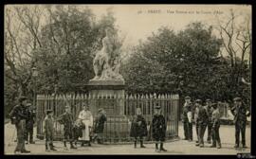
[[[232,107],[231,113],[234,115],[234,123],[247,122],[247,107],[244,104]]]

